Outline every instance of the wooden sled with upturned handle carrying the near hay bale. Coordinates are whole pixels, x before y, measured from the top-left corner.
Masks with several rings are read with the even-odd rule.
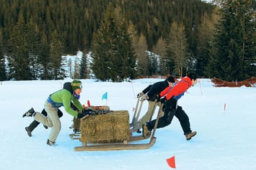
[[[156,137],[154,137],[154,134],[156,132],[156,127],[159,121],[159,112],[156,118],[156,123],[154,125],[154,129],[151,133],[151,136],[148,136],[147,138],[150,138],[149,143],[131,143],[134,141],[139,141],[142,139],[146,139],[143,136],[131,136],[128,141],[123,141],[123,143],[87,143],[82,142],[82,146],[76,146],[74,148],[74,151],[119,151],[119,150],[137,150],[137,149],[147,149],[151,148],[151,146],[156,143]]]

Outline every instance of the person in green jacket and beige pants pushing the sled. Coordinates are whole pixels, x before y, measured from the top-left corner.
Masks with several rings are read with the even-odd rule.
[[[48,136],[47,144],[53,146],[56,143],[58,133],[61,131],[61,121],[58,118],[58,108],[63,106],[65,111],[76,118],[84,118],[92,113],[92,110],[85,110],[79,102],[81,93],[81,81],[73,80],[66,82],[63,89],[50,94],[45,101],[44,109],[48,113],[47,116],[40,112],[35,112],[34,109],[28,110],[22,117],[34,117],[35,121],[43,123],[43,125],[50,127],[50,134]],[[71,102],[74,103],[78,111],[71,108]]]

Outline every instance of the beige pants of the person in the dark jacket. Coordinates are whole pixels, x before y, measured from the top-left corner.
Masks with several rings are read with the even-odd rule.
[[[138,128],[142,128],[142,125],[144,125],[146,122],[150,121],[150,119],[152,118],[152,116],[154,115],[154,102],[152,101],[148,101],[149,102],[149,106],[148,106],[148,111],[146,112],[146,114],[138,121]],[[156,103],[157,106],[159,106],[161,103]],[[164,112],[162,110],[162,107],[159,108],[160,109],[160,117],[162,117],[164,115]]]

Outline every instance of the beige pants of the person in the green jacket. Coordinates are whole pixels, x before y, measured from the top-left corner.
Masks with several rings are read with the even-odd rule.
[[[58,137],[58,133],[61,131],[61,121],[60,118],[58,118],[58,108],[54,108],[50,103],[48,103],[48,101],[45,102],[44,108],[47,112],[47,116],[37,112],[34,119],[35,121],[43,123],[45,126],[51,127],[48,139],[55,142]]]

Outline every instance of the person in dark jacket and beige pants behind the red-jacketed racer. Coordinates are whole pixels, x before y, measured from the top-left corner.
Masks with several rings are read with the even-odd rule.
[[[146,114],[136,123],[136,126],[138,126],[137,133],[141,133],[140,128],[142,127],[142,125],[148,122],[154,115],[154,103],[156,100],[156,95],[159,95],[162,90],[171,86],[174,82],[175,78],[169,76],[166,80],[155,82],[153,85],[149,85],[148,87],[146,87],[141,93],[138,93],[138,98],[141,97],[141,100],[148,100],[149,105]],[[156,105],[160,105],[159,101],[156,103]],[[163,115],[164,113],[162,111],[162,108],[159,109],[161,111],[160,115]]]

